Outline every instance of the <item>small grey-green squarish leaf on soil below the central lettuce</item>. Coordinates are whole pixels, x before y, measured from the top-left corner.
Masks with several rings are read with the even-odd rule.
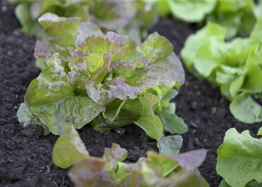
[[[178,154],[182,141],[181,135],[162,136],[158,142],[159,153],[166,156]]]

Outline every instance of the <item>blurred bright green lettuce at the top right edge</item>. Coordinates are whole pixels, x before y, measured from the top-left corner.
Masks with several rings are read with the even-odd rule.
[[[172,13],[175,18],[186,22],[212,21],[226,27],[226,39],[238,33],[248,36],[259,16],[261,8],[253,0],[164,0],[158,1],[160,15]]]

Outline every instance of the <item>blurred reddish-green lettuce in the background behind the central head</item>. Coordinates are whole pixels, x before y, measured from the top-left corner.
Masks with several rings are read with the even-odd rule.
[[[143,0],[9,0],[18,4],[16,17],[26,35],[39,36],[42,30],[38,18],[46,12],[64,17],[80,17],[104,30],[130,35],[138,43],[146,37],[146,30],[158,20],[155,7]]]

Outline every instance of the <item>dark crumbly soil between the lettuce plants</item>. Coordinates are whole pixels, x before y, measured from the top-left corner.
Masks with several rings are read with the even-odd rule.
[[[55,187],[72,186],[68,169],[53,165],[52,148],[58,136],[43,135],[38,125],[19,124],[16,112],[29,83],[39,75],[34,66],[35,38],[25,37],[13,13],[14,8],[0,1],[0,187]],[[160,20],[150,32],[157,31],[180,49],[188,34],[194,32],[188,25],[172,20]],[[216,174],[216,150],[223,142],[227,129],[239,132],[249,129],[255,136],[261,124],[246,125],[235,120],[229,112],[229,102],[221,97],[218,88],[186,72],[186,82],[175,98],[177,114],[189,126],[183,135],[181,152],[198,148],[208,149],[200,172],[211,187],[219,186]],[[90,155],[102,156],[105,147],[119,143],[128,150],[127,162],[146,156],[147,150],[156,150],[156,142],[146,137],[143,130],[129,125],[99,133],[89,125],[79,130]]]

